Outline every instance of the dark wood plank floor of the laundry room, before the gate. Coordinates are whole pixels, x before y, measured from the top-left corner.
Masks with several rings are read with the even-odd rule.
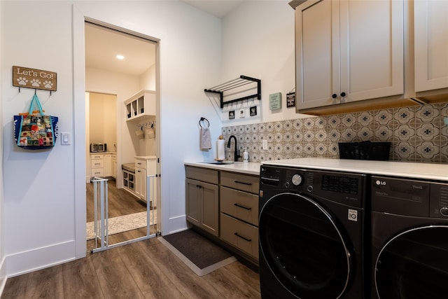
[[[155,237],[12,277],[1,298],[260,298],[260,282],[239,262],[198,277]]]

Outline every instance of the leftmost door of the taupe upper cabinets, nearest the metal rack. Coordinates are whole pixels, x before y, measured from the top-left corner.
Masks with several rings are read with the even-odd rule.
[[[336,104],[338,32],[339,1],[306,1],[295,8],[297,109]]]

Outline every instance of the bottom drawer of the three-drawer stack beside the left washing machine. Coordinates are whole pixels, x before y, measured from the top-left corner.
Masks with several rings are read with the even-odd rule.
[[[221,239],[258,260],[258,228],[221,214]]]

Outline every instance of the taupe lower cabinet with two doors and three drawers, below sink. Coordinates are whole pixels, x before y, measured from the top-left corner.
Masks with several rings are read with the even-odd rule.
[[[258,263],[258,180],[248,174],[186,166],[188,223],[252,263]]]

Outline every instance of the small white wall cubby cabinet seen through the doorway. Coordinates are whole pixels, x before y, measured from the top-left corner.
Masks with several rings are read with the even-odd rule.
[[[126,120],[140,120],[155,116],[155,91],[141,90],[125,101]]]

